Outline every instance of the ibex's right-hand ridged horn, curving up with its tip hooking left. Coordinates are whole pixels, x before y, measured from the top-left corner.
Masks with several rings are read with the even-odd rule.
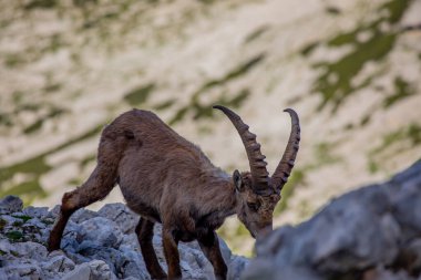
[[[274,175],[271,176],[273,185],[280,191],[284,185],[287,183],[288,177],[292,170],[300,141],[300,127],[297,113],[291,108],[286,108],[284,112],[288,112],[291,117],[291,133],[287,147],[285,148],[283,158],[278,167],[276,167]]]

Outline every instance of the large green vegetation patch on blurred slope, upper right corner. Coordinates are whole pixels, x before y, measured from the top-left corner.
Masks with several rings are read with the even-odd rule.
[[[314,85],[314,91],[322,96],[319,110],[330,103],[335,112],[350,94],[371,83],[372,76],[366,77],[357,85],[353,85],[351,82],[367,62],[380,61],[393,49],[398,33],[394,31],[384,32],[381,30],[381,27],[397,23],[402,18],[410,2],[410,0],[391,0],[381,4],[378,13],[382,15],[379,15],[378,19],[362,23],[356,29],[328,41],[330,48],[343,45],[351,45],[353,48],[352,51],[346,53],[338,61],[315,64],[316,69],[322,70],[322,74],[315,80]],[[368,32],[370,37],[366,41],[360,41],[359,34]],[[308,54],[312,49],[314,45],[310,44],[301,53]]]

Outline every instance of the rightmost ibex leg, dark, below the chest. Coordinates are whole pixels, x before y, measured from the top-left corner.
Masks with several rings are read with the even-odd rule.
[[[199,236],[198,245],[206,258],[214,267],[215,277],[217,280],[225,280],[227,277],[227,266],[225,265],[223,255],[219,249],[218,236],[215,231],[208,231],[205,236]]]

